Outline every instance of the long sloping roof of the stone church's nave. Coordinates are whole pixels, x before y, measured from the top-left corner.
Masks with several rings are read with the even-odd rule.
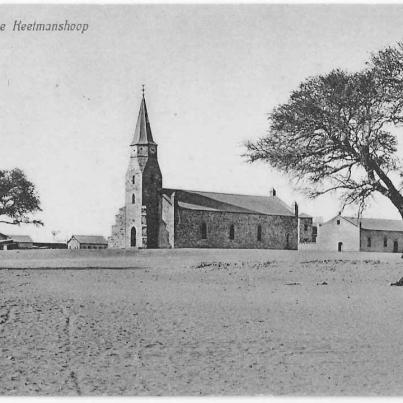
[[[180,189],[163,189],[163,192],[175,192],[178,206],[188,210],[294,216],[293,210],[277,196],[252,196]],[[301,216],[309,217],[306,214],[301,214]]]

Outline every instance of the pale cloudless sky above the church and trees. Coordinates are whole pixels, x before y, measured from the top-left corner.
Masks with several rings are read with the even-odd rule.
[[[22,23],[80,32],[13,31]],[[165,187],[267,195],[329,219],[290,177],[249,164],[247,140],[309,76],[363,68],[403,37],[401,5],[0,5],[0,169],[35,184],[45,226],[0,225],[35,240],[109,236],[145,84]],[[397,132],[400,134],[400,130]],[[354,214],[354,210],[346,210]],[[399,218],[381,197],[369,217]]]

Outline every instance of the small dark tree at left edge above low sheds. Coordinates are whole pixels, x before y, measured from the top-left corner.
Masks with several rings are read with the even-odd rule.
[[[43,225],[32,218],[41,211],[35,186],[20,169],[0,170],[0,223]]]

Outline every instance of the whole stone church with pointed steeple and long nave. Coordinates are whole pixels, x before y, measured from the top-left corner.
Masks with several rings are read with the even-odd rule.
[[[274,189],[250,196],[164,188],[143,94],[110,248],[298,249],[311,238],[312,217]]]

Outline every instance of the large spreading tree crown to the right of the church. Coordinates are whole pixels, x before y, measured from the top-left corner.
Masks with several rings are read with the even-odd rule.
[[[403,217],[403,168],[395,126],[403,122],[403,46],[373,55],[357,73],[312,77],[269,115],[269,131],[247,143],[249,161],[262,160],[296,179],[315,198],[337,191],[342,208],[361,214],[378,192]]]

